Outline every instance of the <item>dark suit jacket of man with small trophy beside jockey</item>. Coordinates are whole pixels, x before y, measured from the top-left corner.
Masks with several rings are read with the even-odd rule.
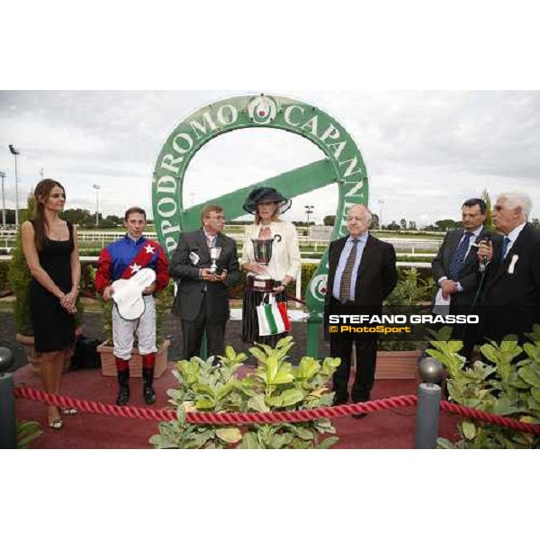
[[[178,238],[178,245],[171,261],[170,275],[179,280],[178,291],[173,305],[173,313],[180,319],[193,321],[201,311],[202,293],[206,288],[206,320],[210,323],[229,320],[229,296],[227,289],[239,277],[236,240],[218,234],[216,247],[221,247],[218,268],[227,270],[224,282],[207,282],[201,279],[199,271],[210,268],[210,249],[206,243],[204,229],[184,232]],[[199,257],[196,263],[190,255]],[[193,257],[192,256],[192,257]]]

